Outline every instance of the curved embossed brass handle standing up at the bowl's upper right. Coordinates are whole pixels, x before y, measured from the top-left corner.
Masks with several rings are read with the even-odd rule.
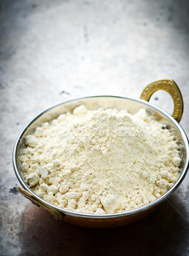
[[[144,88],[140,99],[149,102],[150,97],[157,90],[165,90],[172,96],[174,102],[174,111],[172,113],[172,117],[175,118],[177,122],[180,122],[183,115],[183,97],[177,84],[172,79],[155,81]]]

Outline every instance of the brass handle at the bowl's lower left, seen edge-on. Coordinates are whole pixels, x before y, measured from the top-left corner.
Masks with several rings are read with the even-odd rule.
[[[53,209],[52,207],[48,206],[47,204],[44,204],[42,201],[40,201],[38,198],[36,198],[34,195],[32,195],[27,190],[17,187],[17,191],[24,197],[28,198],[32,204],[36,204],[38,207],[42,206],[43,208],[45,208],[46,210],[51,212],[55,218],[63,220],[63,218],[64,218],[63,214],[61,214],[57,210]]]

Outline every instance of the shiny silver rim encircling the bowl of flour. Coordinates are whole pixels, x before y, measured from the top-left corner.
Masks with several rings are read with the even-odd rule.
[[[185,147],[186,147],[186,164],[184,166],[184,169],[181,173],[181,175],[179,176],[178,180],[176,181],[176,183],[172,186],[171,189],[169,189],[164,195],[162,195],[160,198],[156,199],[155,201],[152,201],[149,204],[146,204],[142,207],[136,208],[136,209],[132,209],[126,212],[119,212],[119,213],[112,213],[112,214],[88,214],[88,213],[81,213],[81,212],[73,212],[70,210],[66,210],[60,207],[57,207],[53,204],[48,203],[47,201],[45,201],[44,199],[40,198],[39,196],[37,196],[30,188],[29,186],[26,185],[26,183],[23,181],[22,177],[20,176],[20,173],[18,171],[17,168],[17,160],[16,160],[16,156],[17,156],[17,148],[19,145],[19,142],[23,136],[23,134],[25,133],[25,131],[28,129],[28,127],[35,121],[37,120],[40,116],[42,116],[44,113],[50,111],[53,108],[56,108],[59,105],[63,105],[69,102],[73,102],[76,100],[81,100],[81,99],[90,99],[90,98],[96,98],[96,97],[113,97],[113,98],[120,98],[120,99],[128,99],[128,100],[132,100],[135,102],[140,102],[143,103],[147,106],[150,106],[151,108],[155,109],[156,111],[162,113],[164,116],[166,116],[167,119],[169,119],[169,121],[171,121],[179,130],[181,137],[183,138]],[[71,103],[70,103],[71,104]],[[42,112],[40,112],[39,114],[37,114],[33,119],[31,119],[26,125],[25,127],[22,129],[22,131],[20,132],[20,134],[17,137],[17,140],[15,141],[14,144],[14,148],[13,148],[13,154],[12,154],[12,161],[13,161],[13,167],[14,167],[14,172],[17,176],[17,179],[19,180],[20,184],[22,185],[22,187],[24,189],[26,189],[28,192],[30,192],[34,197],[36,197],[38,200],[42,201],[43,204],[48,205],[49,207],[57,210],[58,212],[60,212],[62,215],[69,215],[69,216],[73,216],[73,217],[78,217],[78,218],[88,218],[88,219],[109,219],[109,218],[121,218],[121,217],[126,217],[126,216],[130,216],[130,215],[135,215],[135,214],[139,214],[143,211],[146,211],[152,207],[154,207],[155,205],[160,204],[161,202],[163,202],[164,200],[166,200],[174,191],[175,189],[178,188],[178,186],[180,186],[180,183],[183,181],[184,177],[186,176],[186,173],[189,169],[189,141],[188,138],[186,136],[186,133],[184,132],[183,128],[179,125],[179,123],[166,111],[164,111],[163,109],[159,108],[158,106],[147,102],[145,100],[142,99],[135,99],[135,98],[129,98],[129,97],[124,97],[124,96],[117,96],[117,95],[97,95],[97,96],[86,96],[86,97],[80,97],[80,98],[74,98],[71,100],[67,100],[64,102],[60,102],[58,104],[52,105],[49,108],[46,108],[45,110],[43,110]]]

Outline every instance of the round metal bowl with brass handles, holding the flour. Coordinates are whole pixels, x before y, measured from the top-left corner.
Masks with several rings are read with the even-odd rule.
[[[158,108],[157,106],[145,101],[149,101],[150,96],[156,90],[166,90],[172,96],[175,105],[174,112],[172,115],[173,117],[165,111],[163,111],[161,108]],[[155,207],[157,207],[160,203],[165,201],[183,181],[183,178],[185,177],[189,167],[189,142],[183,129],[178,124],[183,113],[183,101],[182,96],[180,94],[180,90],[178,89],[174,81],[160,80],[152,84],[149,84],[143,90],[143,93],[141,94],[140,98],[141,99],[130,99],[121,96],[85,97],[80,99],[73,99],[68,102],[63,102],[58,105],[54,105],[46,109],[39,115],[37,115],[25,126],[25,128],[23,128],[14,145],[14,171],[18,180],[20,181],[20,184],[23,186],[23,189],[18,187],[17,190],[26,198],[28,198],[32,203],[36,204],[37,206],[42,206],[46,208],[55,216],[55,218],[59,218],[61,220],[83,227],[119,227],[137,221],[148,215],[155,209]],[[57,118],[57,116],[59,116],[62,113],[72,113],[74,108],[77,108],[80,105],[84,105],[89,110],[97,109],[99,107],[117,108],[118,110],[126,108],[129,111],[129,113],[132,114],[139,111],[140,108],[144,108],[150,115],[153,115],[158,122],[162,123],[162,127],[168,128],[169,131],[171,131],[172,134],[175,135],[175,138],[178,140],[180,157],[182,159],[180,163],[181,173],[174,186],[172,186],[172,188],[169,189],[168,192],[166,192],[160,198],[143,207],[129,210],[126,212],[105,215],[73,212],[70,210],[54,206],[53,204],[50,204],[44,201],[42,198],[38,197],[26,184],[21,169],[21,164],[19,162],[20,152],[24,147],[26,147],[25,137],[28,134],[32,134],[35,131],[35,129],[42,123],[50,122],[52,121],[52,119]]]

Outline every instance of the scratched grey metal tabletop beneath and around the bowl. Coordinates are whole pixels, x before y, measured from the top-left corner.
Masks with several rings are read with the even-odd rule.
[[[189,255],[189,175],[148,218],[95,230],[19,195],[11,160],[20,130],[44,108],[89,95],[138,98],[166,78],[183,94],[189,135],[189,2],[4,0],[0,18],[0,255]],[[167,93],[151,102],[172,113]]]

